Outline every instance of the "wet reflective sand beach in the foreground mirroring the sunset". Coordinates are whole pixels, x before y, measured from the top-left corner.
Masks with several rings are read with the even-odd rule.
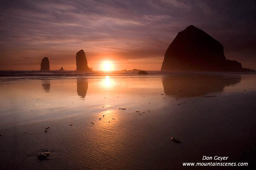
[[[203,156],[254,164],[255,74],[2,80],[3,169],[198,169],[182,162]]]

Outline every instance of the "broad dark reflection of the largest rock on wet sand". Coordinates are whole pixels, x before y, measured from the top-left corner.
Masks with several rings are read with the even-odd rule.
[[[221,92],[224,87],[240,81],[240,76],[175,75],[163,77],[163,88],[164,93],[172,97],[192,97]]]

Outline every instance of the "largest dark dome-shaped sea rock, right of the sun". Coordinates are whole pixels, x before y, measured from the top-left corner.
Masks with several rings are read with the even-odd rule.
[[[188,26],[179,32],[164,55],[161,71],[253,71],[227,60],[220,42]]]

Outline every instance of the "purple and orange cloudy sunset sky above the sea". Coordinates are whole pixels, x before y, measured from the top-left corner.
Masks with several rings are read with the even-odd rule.
[[[0,70],[76,70],[83,49],[100,70],[160,70],[179,31],[194,25],[226,58],[256,69],[255,0],[1,0]]]

